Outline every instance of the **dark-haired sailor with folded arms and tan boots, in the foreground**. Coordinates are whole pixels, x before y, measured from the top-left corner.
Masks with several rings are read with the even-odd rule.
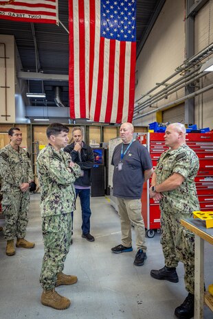
[[[78,280],[76,276],[63,274],[71,245],[71,211],[75,210],[76,202],[74,181],[81,174],[80,167],[61,150],[69,141],[68,132],[67,126],[52,123],[47,128],[49,145],[39,152],[37,160],[45,246],[40,277],[41,303],[55,309],[68,308],[70,300],[60,296],[54,288],[72,285]]]

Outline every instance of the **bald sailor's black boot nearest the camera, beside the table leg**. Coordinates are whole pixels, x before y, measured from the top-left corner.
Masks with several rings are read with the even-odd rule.
[[[190,319],[194,317],[194,294],[188,293],[182,305],[175,309],[175,316],[179,319]]]

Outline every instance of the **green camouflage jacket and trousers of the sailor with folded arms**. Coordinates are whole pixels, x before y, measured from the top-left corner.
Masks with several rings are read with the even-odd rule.
[[[55,287],[71,244],[71,211],[76,202],[74,181],[81,170],[77,164],[69,169],[70,159],[69,153],[56,152],[52,145],[41,150],[37,159],[45,246],[40,283],[44,290]]]

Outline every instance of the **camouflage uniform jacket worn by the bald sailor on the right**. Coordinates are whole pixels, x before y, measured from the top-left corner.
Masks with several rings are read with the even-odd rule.
[[[192,213],[200,209],[194,178],[199,170],[199,158],[195,152],[183,144],[177,150],[167,150],[161,154],[155,173],[157,185],[174,173],[184,177],[183,183],[172,191],[164,191],[159,204],[161,210]]]

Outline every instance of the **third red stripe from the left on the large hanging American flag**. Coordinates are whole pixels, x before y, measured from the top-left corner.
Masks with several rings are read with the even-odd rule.
[[[89,110],[91,105],[91,93],[93,85],[93,66],[94,66],[94,56],[95,56],[95,36],[96,36],[96,1],[89,1]]]

